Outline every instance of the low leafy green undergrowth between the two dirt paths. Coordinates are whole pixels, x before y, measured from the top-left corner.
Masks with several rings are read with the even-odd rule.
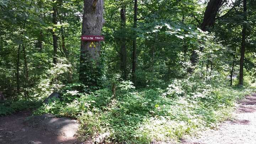
[[[78,119],[81,141],[110,132],[111,143],[177,142],[229,118],[236,100],[252,92],[250,86],[229,87],[219,80],[190,77],[172,80],[166,89],[137,90],[132,82],[121,81],[116,95],[110,88],[81,93],[69,87],[62,101],[44,104],[34,113]]]

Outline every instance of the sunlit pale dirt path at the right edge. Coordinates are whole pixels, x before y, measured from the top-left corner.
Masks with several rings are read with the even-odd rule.
[[[256,94],[239,101],[234,118],[198,138],[182,139],[182,144],[256,144]]]

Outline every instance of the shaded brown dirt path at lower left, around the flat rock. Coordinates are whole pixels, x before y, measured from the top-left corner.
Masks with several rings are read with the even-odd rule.
[[[23,121],[30,116],[23,111],[0,117],[0,144],[75,144],[76,138],[65,138],[25,126]]]

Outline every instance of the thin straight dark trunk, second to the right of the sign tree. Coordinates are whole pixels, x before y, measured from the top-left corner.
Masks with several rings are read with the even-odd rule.
[[[134,0],[134,23],[133,27],[137,28],[137,12],[138,12],[138,2],[137,0]],[[133,38],[133,55],[132,55],[132,81],[133,84],[136,85],[136,75],[135,75],[135,70],[136,70],[136,62],[137,62],[137,32],[134,30],[134,38]]]

